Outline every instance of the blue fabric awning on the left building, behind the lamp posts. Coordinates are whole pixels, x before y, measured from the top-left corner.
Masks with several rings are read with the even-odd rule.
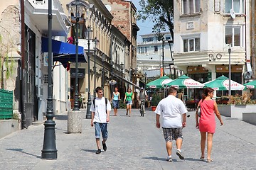
[[[75,62],[75,45],[58,40],[52,40],[53,62]],[[48,52],[48,38],[42,37],[42,52]],[[78,62],[87,62],[87,55],[83,47],[78,46]]]

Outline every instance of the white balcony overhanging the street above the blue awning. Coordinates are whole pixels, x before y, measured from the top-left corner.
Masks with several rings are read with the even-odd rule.
[[[43,34],[48,34],[48,0],[27,0],[25,1],[25,13],[29,20]],[[52,33],[53,36],[68,35],[66,22],[68,18],[64,13],[59,0],[52,0]]]

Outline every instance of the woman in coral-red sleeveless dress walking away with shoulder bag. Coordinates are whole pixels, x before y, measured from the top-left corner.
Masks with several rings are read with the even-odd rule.
[[[210,158],[211,150],[213,147],[213,134],[215,133],[215,115],[218,120],[220,120],[220,125],[223,125],[223,120],[220,117],[220,112],[218,111],[218,106],[216,101],[213,101],[213,89],[206,88],[203,90],[202,99],[199,101],[198,105],[201,106],[201,116],[198,118],[196,114],[196,128],[199,129],[201,133],[201,157],[203,161],[205,158],[205,147],[207,138],[207,159],[206,162],[213,162]],[[215,115],[214,115],[215,113]],[[199,121],[198,121],[199,119]]]

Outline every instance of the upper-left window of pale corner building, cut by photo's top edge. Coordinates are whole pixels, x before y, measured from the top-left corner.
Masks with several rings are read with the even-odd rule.
[[[199,13],[200,0],[182,0],[182,14]]]

